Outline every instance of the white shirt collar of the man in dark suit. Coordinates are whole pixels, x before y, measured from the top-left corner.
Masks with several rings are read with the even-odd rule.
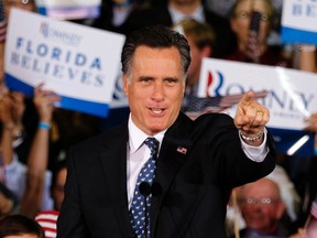
[[[130,154],[133,154],[143,144],[144,140],[147,137],[152,137],[152,136],[144,133],[140,128],[136,127],[136,125],[131,119],[131,113],[129,116],[128,129],[129,129]],[[163,138],[164,138],[166,130],[167,129],[153,136],[160,142],[160,148],[161,148],[161,143],[163,141]]]

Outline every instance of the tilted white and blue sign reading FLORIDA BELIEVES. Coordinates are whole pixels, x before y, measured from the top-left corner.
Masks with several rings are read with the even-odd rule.
[[[107,117],[125,36],[12,9],[6,43],[6,80],[12,90],[45,88],[61,107]]]

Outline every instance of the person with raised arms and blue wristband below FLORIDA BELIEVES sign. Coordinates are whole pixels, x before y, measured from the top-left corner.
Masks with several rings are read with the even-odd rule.
[[[51,209],[53,201],[50,194],[52,173],[47,171],[50,125],[53,116],[53,102],[59,97],[50,90],[34,89],[34,104],[40,122],[32,141],[26,164],[23,164],[13,148],[14,115],[17,104],[23,105],[21,94],[11,93],[0,99],[0,160],[4,165],[3,184],[17,196],[18,212],[34,217],[41,209]]]

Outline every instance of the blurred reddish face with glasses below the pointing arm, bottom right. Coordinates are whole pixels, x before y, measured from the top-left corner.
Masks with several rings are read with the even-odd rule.
[[[285,205],[277,185],[262,178],[238,190],[238,202],[247,227],[271,234],[277,228]]]

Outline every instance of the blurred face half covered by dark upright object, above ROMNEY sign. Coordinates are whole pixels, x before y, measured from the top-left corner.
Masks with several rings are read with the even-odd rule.
[[[253,11],[262,14],[259,30],[259,44],[266,45],[266,40],[271,30],[273,14],[270,0],[238,0],[231,15],[231,29],[237,34],[240,51],[244,52],[248,43],[249,25]]]

